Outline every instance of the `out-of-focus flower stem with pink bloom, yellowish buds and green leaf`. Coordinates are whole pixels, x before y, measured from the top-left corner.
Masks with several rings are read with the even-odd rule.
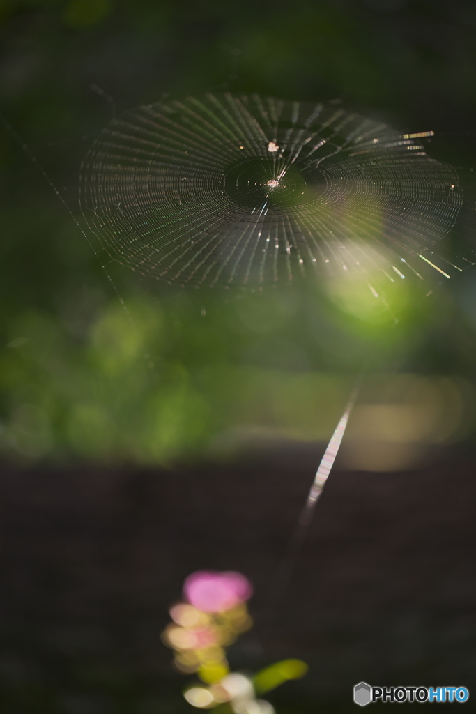
[[[241,573],[198,571],[186,578],[184,601],[171,607],[173,622],[164,630],[163,641],[174,650],[174,667],[201,680],[183,692],[194,707],[228,704],[235,714],[274,714],[273,705],[257,695],[307,672],[301,660],[283,660],[253,677],[230,671],[226,647],[253,624],[246,607],[252,593]]]

